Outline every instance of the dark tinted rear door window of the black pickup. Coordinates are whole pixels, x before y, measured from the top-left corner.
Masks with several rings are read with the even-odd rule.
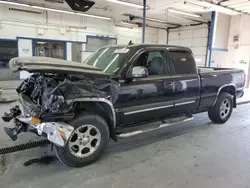
[[[175,74],[194,74],[196,65],[190,52],[170,52]]]

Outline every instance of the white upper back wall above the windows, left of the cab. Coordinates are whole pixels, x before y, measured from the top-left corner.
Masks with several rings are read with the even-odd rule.
[[[71,60],[72,42],[86,43],[88,35],[117,38],[118,44],[128,44],[130,40],[134,43],[141,43],[142,29],[116,27],[112,21],[55,12],[31,14],[10,11],[8,5],[0,5],[0,39],[27,37],[30,38],[27,40],[40,38],[67,41],[67,59]],[[153,28],[147,28],[146,30],[146,43],[157,43],[159,41],[164,43],[162,39],[166,39],[166,37],[164,31],[160,32]],[[30,50],[32,51],[32,45],[26,47],[31,47]],[[19,48],[22,48],[19,49],[19,52],[26,47],[19,45]],[[83,50],[84,48],[83,45]],[[86,54],[89,55],[88,52]],[[5,77],[5,75],[4,70],[0,69],[0,79],[1,77]]]

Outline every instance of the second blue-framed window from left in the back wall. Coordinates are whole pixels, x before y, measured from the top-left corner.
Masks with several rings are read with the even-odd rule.
[[[50,42],[35,40],[35,56],[64,59],[64,42]]]

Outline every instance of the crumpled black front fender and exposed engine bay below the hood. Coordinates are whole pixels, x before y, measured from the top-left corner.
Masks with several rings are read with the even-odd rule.
[[[32,109],[32,116],[40,117],[43,113],[71,111],[73,106],[66,103],[71,99],[101,97],[114,102],[118,95],[118,84],[93,76],[36,73],[24,80],[17,92],[31,99],[37,106]]]

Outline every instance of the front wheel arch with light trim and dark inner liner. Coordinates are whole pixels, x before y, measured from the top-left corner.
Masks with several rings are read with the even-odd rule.
[[[94,112],[104,118],[109,126],[110,137],[117,141],[116,136],[116,114],[113,104],[105,98],[78,98],[71,101],[67,101],[68,104],[72,104],[75,108],[76,114],[82,112],[82,110]]]

